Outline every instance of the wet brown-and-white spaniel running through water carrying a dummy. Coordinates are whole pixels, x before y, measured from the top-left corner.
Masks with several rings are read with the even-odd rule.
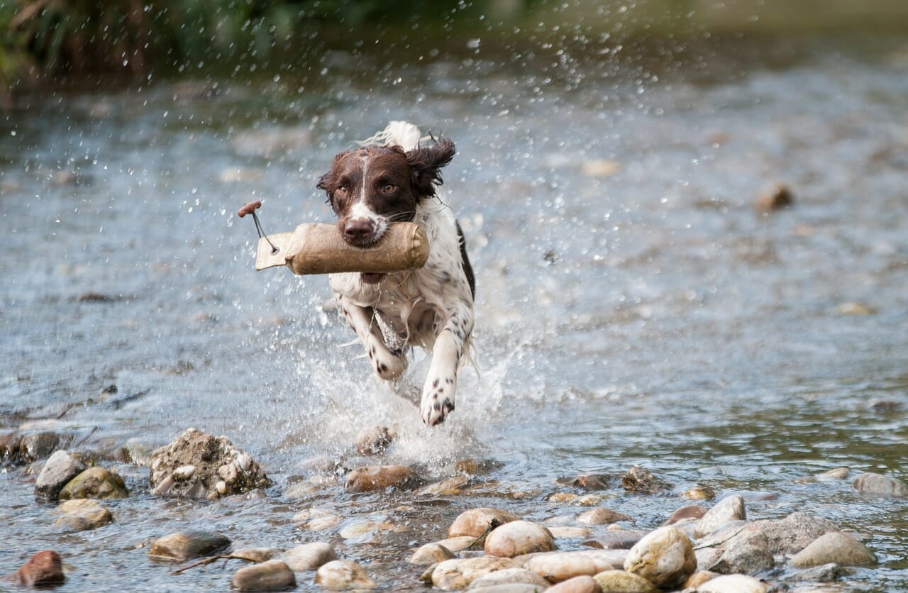
[[[360,148],[339,153],[317,187],[328,194],[345,242],[368,247],[393,222],[415,222],[429,239],[419,270],[329,275],[341,316],[383,381],[407,370],[410,346],[431,354],[419,413],[435,426],[454,410],[458,371],[469,358],[476,281],[463,231],[438,186],[454,157],[446,137],[420,141],[419,128],[391,122]]]

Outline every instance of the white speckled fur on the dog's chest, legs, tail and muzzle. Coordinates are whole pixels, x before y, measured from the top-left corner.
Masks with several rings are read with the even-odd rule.
[[[392,122],[366,143],[419,145],[419,128]],[[363,204],[353,206],[355,216]],[[374,215],[374,212],[371,212]],[[429,239],[429,260],[419,270],[388,274],[378,284],[361,281],[359,273],[330,274],[331,290],[341,314],[366,349],[373,369],[390,381],[407,369],[407,347],[432,353],[422,390],[420,415],[432,426],[454,409],[457,373],[470,347],[473,297],[460,262],[457,226],[450,208],[439,199],[416,207],[413,220]],[[382,331],[382,326],[384,331]]]

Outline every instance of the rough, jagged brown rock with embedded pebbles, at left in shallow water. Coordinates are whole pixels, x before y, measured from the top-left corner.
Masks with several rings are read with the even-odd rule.
[[[149,469],[155,496],[217,499],[271,485],[248,453],[195,429],[154,450]]]

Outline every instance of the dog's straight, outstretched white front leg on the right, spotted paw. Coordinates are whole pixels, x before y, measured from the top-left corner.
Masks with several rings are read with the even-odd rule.
[[[432,365],[422,387],[419,412],[428,426],[443,422],[454,410],[454,392],[457,390],[457,373],[460,358],[473,331],[473,311],[458,307],[450,312],[448,322],[439,333],[432,348]]]

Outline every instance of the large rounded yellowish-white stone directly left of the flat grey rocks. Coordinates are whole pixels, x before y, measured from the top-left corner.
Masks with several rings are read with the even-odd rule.
[[[680,529],[659,528],[630,549],[624,568],[656,587],[675,587],[696,570],[694,545]]]

